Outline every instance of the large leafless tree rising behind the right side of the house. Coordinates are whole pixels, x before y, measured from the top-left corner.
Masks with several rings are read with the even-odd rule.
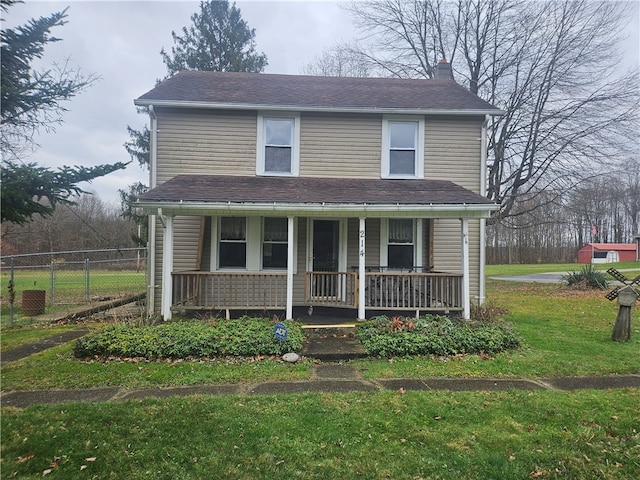
[[[431,78],[446,58],[458,82],[504,110],[490,125],[493,221],[560,195],[585,165],[635,147],[640,74],[619,44],[631,4],[590,0],[378,0],[349,9],[365,35],[354,49],[387,75]]]

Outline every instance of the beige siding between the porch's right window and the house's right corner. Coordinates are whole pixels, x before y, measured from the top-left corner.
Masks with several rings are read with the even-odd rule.
[[[458,219],[433,220],[435,271],[462,273],[461,223]],[[469,288],[472,303],[480,292],[480,221],[469,220]]]

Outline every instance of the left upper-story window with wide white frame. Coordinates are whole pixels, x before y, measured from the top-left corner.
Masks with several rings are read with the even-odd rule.
[[[299,172],[299,115],[258,115],[258,175],[292,175]]]

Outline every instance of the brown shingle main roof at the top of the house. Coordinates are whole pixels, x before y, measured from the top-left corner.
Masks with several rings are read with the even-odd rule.
[[[189,103],[210,106],[500,111],[453,80],[349,78],[263,73],[182,71],[136,100],[138,105]]]

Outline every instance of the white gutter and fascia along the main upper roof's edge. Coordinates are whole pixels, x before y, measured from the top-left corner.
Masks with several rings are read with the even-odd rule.
[[[216,102],[196,102],[196,101],[174,101],[174,100],[141,100],[133,102],[139,107],[174,107],[174,108],[198,108],[198,109],[219,109],[219,110],[269,110],[269,111],[298,111],[298,112],[340,112],[340,113],[380,113],[397,115],[465,115],[465,116],[485,116],[504,115],[503,110],[479,109],[479,110],[455,110],[455,109],[408,109],[408,108],[375,108],[375,107],[341,107],[341,106],[308,106],[308,105],[267,105],[250,103],[216,103]]]

